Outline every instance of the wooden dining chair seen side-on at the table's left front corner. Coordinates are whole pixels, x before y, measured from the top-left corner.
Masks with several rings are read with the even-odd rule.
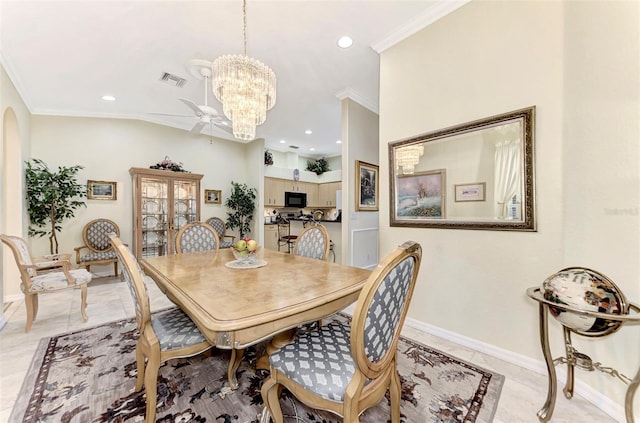
[[[209,350],[212,345],[179,308],[151,314],[149,294],[140,265],[131,250],[115,235],[111,244],[122,263],[124,280],[135,305],[138,341],[136,343],[136,392],[144,386],[147,397],[145,421],[155,422],[158,396],[158,372],[167,360],[192,357]]]

